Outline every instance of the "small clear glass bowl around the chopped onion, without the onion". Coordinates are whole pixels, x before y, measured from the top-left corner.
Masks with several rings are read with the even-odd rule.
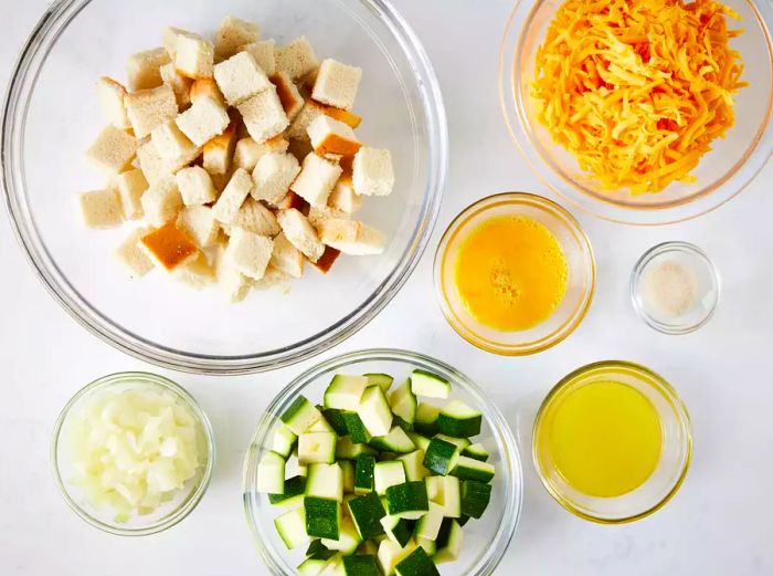
[[[116,392],[137,388],[172,392],[178,401],[190,410],[190,413],[199,425],[199,440],[200,446],[204,447],[205,461],[199,468],[197,475],[186,483],[184,490],[176,493],[172,500],[161,504],[150,514],[135,514],[127,522],[116,522],[112,517],[109,509],[96,509],[91,505],[85,499],[83,491],[68,481],[71,476],[70,463],[66,457],[66,449],[63,446],[66,444],[63,434],[66,434],[68,416],[80,409],[85,400],[106,391]],[[170,528],[188,516],[197,506],[210,483],[215,460],[214,446],[214,434],[209,418],[207,418],[195,399],[181,386],[156,374],[126,371],[103,376],[82,388],[70,399],[54,426],[54,436],[51,442],[51,462],[54,469],[54,480],[62,492],[62,496],[67,505],[84,521],[94,527],[118,536],[147,536]]]

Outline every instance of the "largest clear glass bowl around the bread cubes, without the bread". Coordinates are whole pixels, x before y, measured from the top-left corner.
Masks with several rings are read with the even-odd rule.
[[[234,14],[285,42],[306,34],[320,57],[363,69],[358,130],[392,151],[396,186],[358,213],[382,229],[382,255],[309,270],[289,293],[236,305],[156,271],[126,279],[115,247],[125,231],[82,228],[73,193],[99,187],[84,153],[102,128],[95,82],[125,77],[129,54],[161,44],[166,25],[212,33]],[[419,40],[383,0],[62,0],[39,22],[11,78],[2,118],[2,178],[11,220],[51,294],[117,348],[165,367],[235,374],[288,365],[343,341],[413,271],[437,213],[447,160],[445,112]]]

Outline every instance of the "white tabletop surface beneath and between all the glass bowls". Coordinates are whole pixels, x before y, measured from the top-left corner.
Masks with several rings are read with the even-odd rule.
[[[0,0],[0,84],[45,7]],[[431,248],[402,292],[369,326],[328,352],[395,346],[435,355],[478,381],[519,436],[526,476],[521,523],[497,574],[773,574],[773,166],[739,198],[697,221],[633,229],[578,214],[596,250],[597,292],[580,328],[555,348],[500,358],[473,348],[434,301],[433,250],[470,201],[502,190],[551,196],[527,169],[505,128],[497,95],[498,43],[508,0],[399,0],[430,53],[451,130],[451,169]],[[716,317],[696,334],[646,327],[627,296],[640,253],[665,240],[701,245],[723,277]],[[120,538],[78,520],[53,483],[49,442],[60,408],[107,373],[149,369],[76,325],[33,275],[0,218],[0,574],[264,574],[242,517],[241,465],[267,401],[315,360],[272,374],[204,378],[163,373],[186,386],[212,419],[219,461],[198,509],[151,537]],[[681,491],[661,511],[625,526],[600,526],[564,512],[531,464],[536,406],[573,368],[604,358],[650,366],[682,395],[692,417],[695,458]]]

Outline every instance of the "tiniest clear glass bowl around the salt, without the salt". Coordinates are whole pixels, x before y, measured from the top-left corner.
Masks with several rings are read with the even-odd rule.
[[[695,301],[677,316],[669,316],[647,302],[645,285],[652,266],[674,261],[692,276]],[[700,248],[688,242],[664,242],[647,250],[631,274],[631,301],[636,313],[650,327],[664,334],[688,334],[711,320],[722,292],[719,271]]]

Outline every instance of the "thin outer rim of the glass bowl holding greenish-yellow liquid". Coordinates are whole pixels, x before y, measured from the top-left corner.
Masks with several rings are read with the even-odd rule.
[[[573,384],[574,380],[578,378],[582,377],[585,373],[590,373],[595,369],[603,369],[603,368],[611,368],[611,369],[629,369],[633,370],[634,373],[640,373],[643,375],[646,375],[649,377],[653,381],[657,383],[657,386],[659,386],[659,391],[664,394],[668,402],[674,408],[674,411],[678,415],[679,423],[681,425],[682,430],[685,431],[685,442],[686,442],[686,451],[685,451],[685,463],[681,468],[681,471],[679,473],[679,476],[677,478],[676,482],[671,486],[671,489],[666,493],[664,498],[661,498],[656,504],[653,506],[648,507],[645,511],[638,512],[636,514],[628,514],[626,516],[621,516],[621,517],[601,517],[601,516],[595,516],[593,514],[589,514],[586,512],[583,512],[579,507],[576,507],[571,499],[565,498],[560,491],[555,490],[554,486],[550,483],[548,478],[542,471],[542,465],[540,463],[540,459],[538,455],[538,450],[537,450],[537,428],[539,426],[539,422],[541,418],[544,415],[544,410],[548,408],[550,405],[551,400],[555,398],[555,396],[563,390],[566,386]],[[646,383],[647,386],[653,387],[652,381]],[[534,464],[534,468],[537,469],[537,475],[540,478],[540,482],[542,482],[542,485],[544,489],[548,491],[548,493],[553,498],[555,502],[558,502],[561,506],[563,506],[565,510],[571,512],[578,517],[581,517],[583,520],[587,520],[591,522],[595,522],[597,524],[628,524],[631,522],[636,522],[638,520],[645,519],[647,516],[650,516],[661,507],[664,507],[675,495],[677,492],[679,492],[679,489],[681,488],[681,484],[685,482],[685,479],[687,478],[687,473],[690,469],[690,463],[692,462],[692,425],[690,420],[690,413],[687,410],[687,406],[685,405],[684,400],[681,399],[681,396],[679,396],[679,392],[677,392],[676,388],[671,386],[668,380],[666,380],[663,376],[660,376],[658,373],[655,370],[647,368],[646,366],[642,364],[637,364],[635,362],[631,360],[599,360],[594,362],[591,364],[586,364],[584,366],[580,366],[579,368],[575,368],[571,373],[569,373],[566,376],[561,378],[547,394],[542,402],[540,404],[540,408],[537,411],[537,416],[534,417],[534,423],[531,429],[531,457],[532,457],[532,462]]]

